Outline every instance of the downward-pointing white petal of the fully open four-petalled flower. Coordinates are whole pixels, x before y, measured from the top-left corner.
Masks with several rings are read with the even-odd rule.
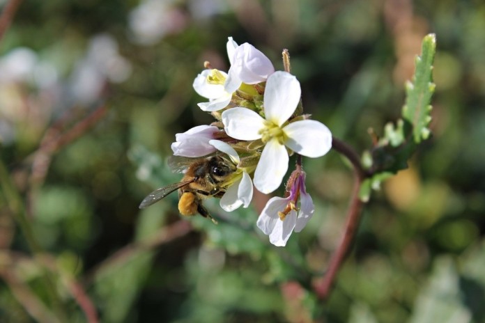
[[[256,171],[254,171],[254,186],[261,193],[269,194],[282,184],[288,171],[288,152],[277,139],[266,143]]]

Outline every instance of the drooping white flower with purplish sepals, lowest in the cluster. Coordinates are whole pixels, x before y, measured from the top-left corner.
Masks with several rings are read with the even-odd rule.
[[[300,198],[300,210],[297,216],[297,203]],[[285,246],[293,230],[300,232],[315,211],[313,200],[305,189],[305,173],[301,172],[291,186],[287,198],[271,198],[264,207],[256,225],[275,246]]]

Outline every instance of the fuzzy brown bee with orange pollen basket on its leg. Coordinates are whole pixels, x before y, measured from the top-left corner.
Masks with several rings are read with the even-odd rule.
[[[202,205],[202,200],[209,197],[222,198],[226,192],[227,180],[237,169],[236,165],[218,155],[195,161],[190,160],[191,162],[188,165],[174,159],[171,160],[171,166],[175,171],[185,173],[182,180],[155,189],[141,201],[139,208],[143,209],[157,203],[165,196],[178,190],[178,211],[180,214],[193,216],[199,213],[217,224],[206,207]]]

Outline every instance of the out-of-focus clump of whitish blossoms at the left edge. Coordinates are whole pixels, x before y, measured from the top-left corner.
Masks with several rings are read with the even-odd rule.
[[[107,82],[125,81],[132,72],[132,65],[119,54],[118,43],[108,34],[91,38],[77,63],[59,60],[58,54],[55,46],[37,52],[17,47],[0,56],[2,143],[13,142],[18,136],[37,140],[53,113],[93,104]],[[72,71],[67,80],[61,77],[63,68]]]

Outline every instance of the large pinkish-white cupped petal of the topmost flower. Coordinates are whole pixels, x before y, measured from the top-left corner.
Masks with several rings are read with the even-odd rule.
[[[275,72],[270,59],[247,42],[236,48],[231,69],[245,84],[266,81],[270,74]]]

